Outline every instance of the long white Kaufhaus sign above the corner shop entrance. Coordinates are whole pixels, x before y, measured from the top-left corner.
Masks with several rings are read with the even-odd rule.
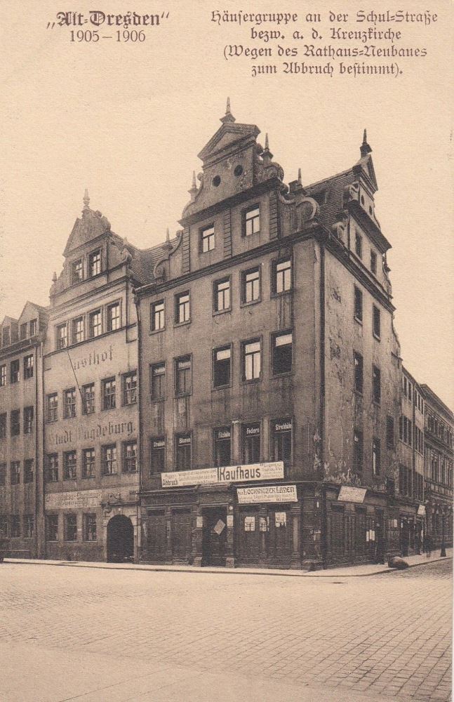
[[[210,483],[272,480],[275,478],[283,478],[283,461],[161,473],[161,484],[163,487],[183,487],[187,485],[208,485]]]

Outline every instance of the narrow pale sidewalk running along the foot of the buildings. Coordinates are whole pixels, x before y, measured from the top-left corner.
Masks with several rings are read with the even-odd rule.
[[[453,549],[446,549],[446,557],[441,558],[439,550],[434,551],[432,556],[427,557],[427,555],[419,556],[406,556],[404,560],[408,563],[410,568],[415,566],[427,565],[428,563],[434,563],[440,560],[452,559]],[[6,558],[5,562],[10,563],[26,563],[26,564],[36,564],[36,565],[52,565],[52,566],[68,566],[77,568],[103,568],[112,570],[139,570],[139,571],[157,571],[165,572],[171,571],[174,573],[222,573],[231,575],[269,575],[269,576],[290,576],[296,578],[361,578],[364,576],[377,575],[380,573],[392,573],[395,571],[394,568],[389,568],[387,564],[380,563],[367,563],[364,565],[354,565],[340,568],[328,568],[326,570],[319,571],[304,571],[304,570],[281,570],[281,569],[271,569],[271,568],[215,568],[206,567],[198,568],[194,566],[189,566],[185,564],[179,565],[164,565],[164,564],[154,564],[154,565],[143,565],[136,563],[104,563],[95,561],[55,561],[55,560],[44,560],[44,559],[21,559],[21,558]]]

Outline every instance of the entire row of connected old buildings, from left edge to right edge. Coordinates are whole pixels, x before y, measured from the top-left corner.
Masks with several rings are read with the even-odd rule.
[[[323,567],[452,543],[453,413],[402,366],[366,134],[283,182],[229,107],[175,237],[84,197],[50,305],[1,324],[18,557]],[[435,359],[434,359],[435,362]]]

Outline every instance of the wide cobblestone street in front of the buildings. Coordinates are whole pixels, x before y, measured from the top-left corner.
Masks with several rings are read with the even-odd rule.
[[[451,566],[290,578],[5,563],[0,700],[446,702]]]

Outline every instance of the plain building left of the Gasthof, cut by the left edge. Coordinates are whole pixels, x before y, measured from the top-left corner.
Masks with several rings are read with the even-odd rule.
[[[25,558],[38,553],[47,320],[44,307],[27,302],[19,319],[0,326],[0,533],[11,538],[11,555]]]

